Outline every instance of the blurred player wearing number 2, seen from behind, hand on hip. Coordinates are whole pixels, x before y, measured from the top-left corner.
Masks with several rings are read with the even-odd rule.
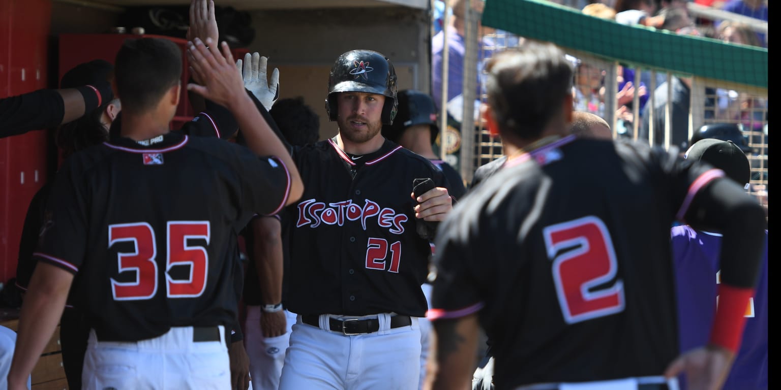
[[[756,282],[762,208],[676,148],[568,134],[572,65],[555,45],[526,41],[487,70],[485,119],[508,158],[438,230],[433,388],[469,385],[480,324],[501,340],[498,389],[666,389],[684,371],[692,388],[719,388]],[[710,342],[678,358],[676,218],[724,233]]]

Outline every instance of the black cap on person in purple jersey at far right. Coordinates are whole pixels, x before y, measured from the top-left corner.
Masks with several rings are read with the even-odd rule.
[[[747,185],[751,179],[751,165],[746,154],[733,141],[706,138],[692,145],[684,158],[694,161],[705,161],[719,168],[729,179],[735,180],[741,186]]]

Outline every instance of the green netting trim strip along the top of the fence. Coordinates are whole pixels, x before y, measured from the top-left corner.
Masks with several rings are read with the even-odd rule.
[[[483,25],[672,73],[768,87],[768,50],[624,26],[545,0],[487,0]]]

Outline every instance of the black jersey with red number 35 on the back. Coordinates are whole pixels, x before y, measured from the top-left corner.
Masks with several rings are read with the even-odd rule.
[[[284,206],[287,167],[214,138],[144,144],[121,138],[65,161],[34,255],[82,275],[79,305],[102,341],[230,327],[237,233]]]

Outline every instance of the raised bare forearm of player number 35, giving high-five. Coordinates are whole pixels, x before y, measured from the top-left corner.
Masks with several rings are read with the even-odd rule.
[[[236,116],[239,129],[244,134],[244,140],[247,141],[247,146],[251,151],[262,156],[276,156],[287,166],[287,171],[291,175],[291,190],[287,204],[298,200],[301,193],[304,192],[304,184],[301,182],[301,176],[293,158],[279,137],[276,137],[266,119],[263,119],[258,109],[255,108],[251,99],[246,94],[239,94],[228,108]]]

